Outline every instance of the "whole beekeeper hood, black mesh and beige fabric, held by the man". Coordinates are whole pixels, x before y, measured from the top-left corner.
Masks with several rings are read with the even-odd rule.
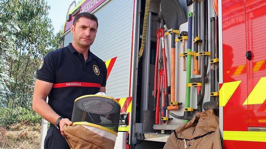
[[[74,102],[72,126],[65,125],[71,149],[111,149],[115,146],[120,104],[105,95],[85,95]]]

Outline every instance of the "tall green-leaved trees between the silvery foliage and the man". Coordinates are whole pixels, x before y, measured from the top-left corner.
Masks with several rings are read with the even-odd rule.
[[[49,39],[53,36],[51,20],[47,17],[49,9],[44,0],[5,0],[0,6],[2,21],[15,20],[21,29],[15,34],[18,59],[10,61],[10,77],[15,79],[10,90],[14,93],[33,90],[36,67],[48,52]]]

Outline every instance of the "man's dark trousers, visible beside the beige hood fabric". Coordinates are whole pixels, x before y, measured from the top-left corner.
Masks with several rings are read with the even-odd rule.
[[[70,149],[70,147],[60,130],[50,125],[44,140],[44,149]]]

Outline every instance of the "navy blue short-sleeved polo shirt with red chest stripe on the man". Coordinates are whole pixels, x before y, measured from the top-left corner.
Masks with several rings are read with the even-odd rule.
[[[64,118],[71,120],[76,98],[93,95],[106,85],[105,63],[90,50],[85,61],[70,43],[68,46],[49,52],[37,69],[36,78],[54,83],[48,104]]]

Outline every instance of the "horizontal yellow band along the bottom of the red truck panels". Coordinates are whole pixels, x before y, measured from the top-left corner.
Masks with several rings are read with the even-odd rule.
[[[224,140],[266,142],[266,132],[223,131]]]

